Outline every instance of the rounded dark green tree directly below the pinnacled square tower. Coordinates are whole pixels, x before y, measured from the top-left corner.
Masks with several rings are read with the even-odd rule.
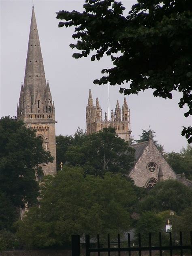
[[[118,137],[115,128],[109,127],[87,135],[81,145],[69,147],[66,160],[73,166],[82,166],[85,174],[128,174],[134,165],[134,149]]]

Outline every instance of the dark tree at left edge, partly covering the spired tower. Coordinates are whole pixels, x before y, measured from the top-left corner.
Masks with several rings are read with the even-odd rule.
[[[16,118],[0,119],[0,205],[3,209],[10,206],[7,216],[3,209],[0,211],[3,217],[1,228],[13,223],[15,208],[24,208],[37,202],[39,187],[36,175],[43,175],[39,164],[51,161],[53,158],[44,151],[34,130],[26,128]]]

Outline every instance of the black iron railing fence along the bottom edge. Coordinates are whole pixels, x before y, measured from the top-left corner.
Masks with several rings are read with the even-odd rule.
[[[128,252],[128,256],[131,256],[131,252],[139,252],[139,256],[142,255],[142,252],[149,252],[149,256],[152,255],[153,251],[159,252],[159,255],[162,256],[163,251],[169,252],[170,256],[173,256],[173,251],[177,252],[174,255],[184,256],[183,250],[188,250],[188,253],[185,255],[192,255],[192,231],[190,232],[190,245],[183,245],[182,232],[180,232],[180,239],[177,241],[177,245],[173,245],[172,234],[169,233],[169,245],[162,245],[162,235],[159,233],[159,246],[151,245],[151,233],[149,233],[149,246],[141,246],[141,234],[138,235],[138,246],[131,246],[130,234],[128,234],[128,241],[126,241],[128,247],[121,247],[120,236],[117,235],[117,246],[111,246],[110,235],[107,237],[107,247],[102,247],[100,243],[100,237],[97,235],[96,247],[90,246],[90,235],[85,235],[85,255],[90,256],[91,252],[97,253],[100,256],[101,252],[108,253],[108,256],[111,255],[111,252],[118,252],[118,256],[121,256],[121,252]],[[72,256],[81,255],[81,245],[80,245],[80,236],[72,235]]]

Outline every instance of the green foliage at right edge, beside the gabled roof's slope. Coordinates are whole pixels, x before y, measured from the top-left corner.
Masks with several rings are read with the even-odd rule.
[[[172,151],[165,156],[167,162],[169,162],[176,173],[184,173],[187,179],[192,180],[192,146],[188,145],[187,148],[183,148],[180,153]]]

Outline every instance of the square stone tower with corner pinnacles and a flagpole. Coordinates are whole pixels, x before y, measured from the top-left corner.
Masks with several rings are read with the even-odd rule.
[[[98,132],[103,128],[109,126],[116,129],[116,133],[119,137],[125,141],[129,141],[130,130],[130,110],[128,108],[126,98],[124,98],[124,105],[122,109],[119,107],[119,101],[117,100],[115,112],[111,110],[111,121],[107,119],[107,113],[105,113],[104,121],[102,120],[102,109],[99,105],[99,100],[96,98],[96,105],[93,104],[91,90],[89,91],[88,104],[86,107],[86,123],[87,134]]]

